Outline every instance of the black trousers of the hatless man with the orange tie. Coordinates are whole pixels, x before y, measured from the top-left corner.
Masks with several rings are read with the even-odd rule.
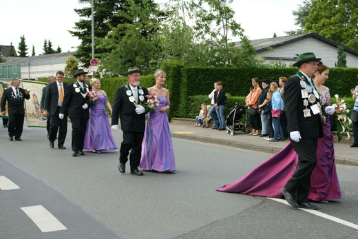
[[[60,109],[61,107],[57,107],[56,113],[50,115],[50,135],[48,139],[53,143],[56,140],[57,132],[59,131],[58,145],[63,145],[67,134],[67,116],[63,117],[63,119],[59,118]]]

